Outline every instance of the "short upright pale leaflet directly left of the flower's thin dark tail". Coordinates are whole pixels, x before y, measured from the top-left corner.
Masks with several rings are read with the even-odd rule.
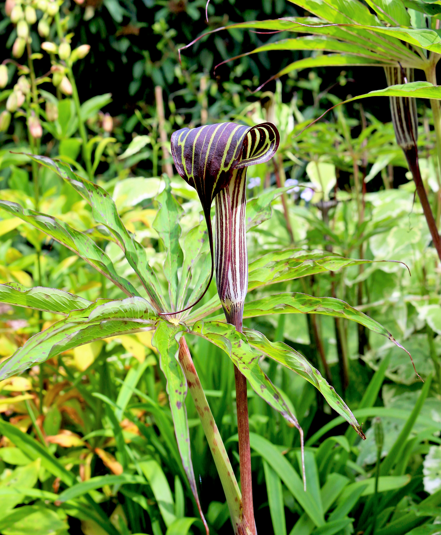
[[[196,281],[195,289],[191,293],[188,303],[197,301],[198,295],[205,288],[208,278],[210,277],[209,262],[204,262],[206,256],[210,254],[208,246],[208,232],[205,225],[199,224],[193,227],[184,238],[184,261],[182,264],[182,275],[179,283],[179,293],[177,295],[176,310],[181,310],[185,303],[185,297],[188,293],[193,270],[198,261],[202,260],[202,266],[199,274],[199,280]]]

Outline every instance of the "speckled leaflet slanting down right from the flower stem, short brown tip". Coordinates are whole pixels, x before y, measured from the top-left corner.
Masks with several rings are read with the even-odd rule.
[[[262,333],[253,329],[244,328],[243,332],[247,342],[254,350],[261,351],[275,361],[287,366],[287,368],[295,371],[314,385],[321,392],[329,406],[338,412],[338,414],[342,415],[346,422],[351,424],[355,431],[357,431],[360,437],[364,438],[365,435],[361,431],[361,426],[349,407],[337,394],[334,387],[329,386],[327,381],[323,379],[319,370],[312,368],[303,355],[300,355],[295,349],[292,349],[283,342],[270,342]]]

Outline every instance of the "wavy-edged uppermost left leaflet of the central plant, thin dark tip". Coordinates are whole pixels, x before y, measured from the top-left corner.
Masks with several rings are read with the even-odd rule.
[[[46,156],[30,156],[37,163],[41,163],[55,171],[66,180],[92,208],[92,216],[97,223],[105,225],[113,234],[115,240],[125,252],[130,266],[140,278],[145,291],[154,308],[159,312],[166,308],[162,291],[156,273],[150,268],[145,250],[140,243],[131,238],[126,227],[118,215],[117,207],[112,197],[105,189],[75,174],[68,164],[54,162]]]

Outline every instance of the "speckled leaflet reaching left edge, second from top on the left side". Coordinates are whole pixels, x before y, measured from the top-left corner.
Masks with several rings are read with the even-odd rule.
[[[69,225],[54,217],[22,208],[19,204],[10,201],[0,200],[0,208],[13,213],[14,216],[33,225],[38,230],[48,234],[48,236],[81,256],[81,258],[114,282],[127,295],[139,295],[129,281],[118,275],[109,256],[87,234],[69,227]]]

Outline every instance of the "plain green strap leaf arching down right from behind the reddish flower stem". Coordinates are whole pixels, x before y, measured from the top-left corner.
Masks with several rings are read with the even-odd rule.
[[[229,440],[238,440],[237,435],[231,437]],[[280,450],[269,440],[256,433],[250,433],[251,448],[257,452],[277,473],[278,477],[287,486],[289,492],[300,503],[301,507],[310,516],[311,520],[316,526],[324,524],[323,514],[320,508],[315,503],[314,498],[306,487],[306,492],[303,487],[303,482],[296,470],[292,467],[286,457],[284,457]]]

